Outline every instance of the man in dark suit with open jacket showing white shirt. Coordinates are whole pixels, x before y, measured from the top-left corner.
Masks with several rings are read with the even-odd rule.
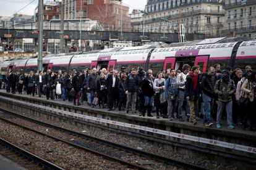
[[[117,70],[113,70],[112,75],[108,75],[106,79],[106,88],[108,94],[108,111],[113,110],[114,101],[116,100],[119,78],[117,77]]]

